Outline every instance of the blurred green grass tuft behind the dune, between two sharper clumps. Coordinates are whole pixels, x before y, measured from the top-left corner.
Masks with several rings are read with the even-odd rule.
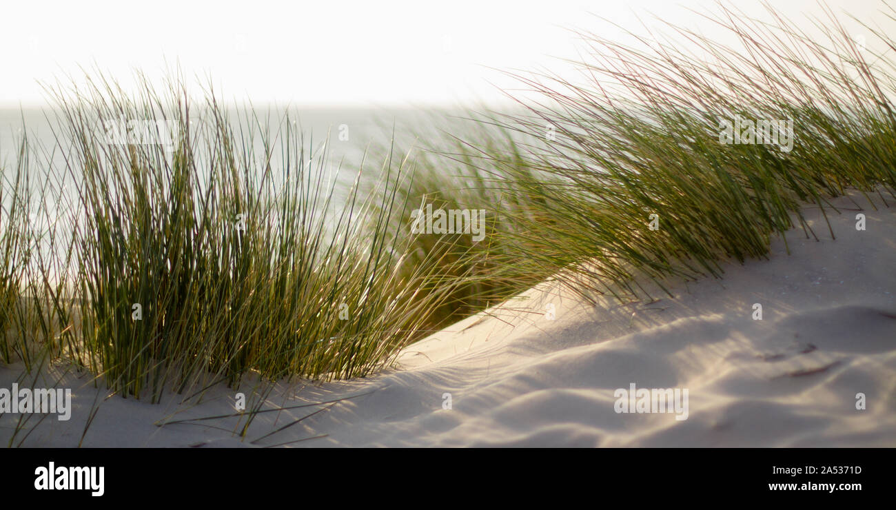
[[[447,298],[430,317],[432,328],[439,329],[498,305],[549,274],[528,272],[535,268],[517,257],[514,246],[508,243],[512,234],[519,233],[518,224],[508,219],[534,212],[530,197],[491,166],[480,164],[493,158],[506,159],[510,164],[516,161],[516,170],[527,175],[530,168],[513,134],[495,126],[490,117],[473,112],[469,112],[469,117],[444,114],[431,120],[440,128],[426,133],[426,127],[418,126],[414,132],[426,135],[415,143],[403,144],[400,149],[381,144],[371,151],[378,157],[396,151],[409,161],[411,177],[397,189],[402,202],[413,204],[412,209],[423,209],[429,204],[434,211],[486,212],[485,237],[479,241],[470,234],[424,234],[411,239],[406,267],[426,267],[426,272],[442,274],[452,282]],[[468,140],[476,140],[477,144]],[[390,235],[407,231],[410,224],[410,216],[406,215],[403,221],[390,226]],[[513,265],[506,266],[509,260],[513,260]]]

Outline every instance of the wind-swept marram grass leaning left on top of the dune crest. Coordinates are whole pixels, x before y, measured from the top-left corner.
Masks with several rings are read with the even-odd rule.
[[[497,124],[540,141],[519,143],[522,157],[483,148],[470,161],[523,204],[495,208],[513,229],[493,240],[504,249],[492,263],[556,277],[585,298],[634,298],[646,292],[636,276],[660,285],[719,276],[722,259],[766,255],[793,218],[816,236],[800,208],[827,212],[847,186],[869,201],[878,185],[892,194],[892,58],[858,48],[833,14],[820,24],[823,39],[811,39],[769,12],[771,23],[724,8],[708,18],[737,35],[740,50],[675,27],[691,46],[642,39],[644,48],[630,48],[583,33],[590,82],[518,74],[541,99]],[[896,48],[887,32],[867,30]],[[792,120],[793,145],[730,143],[720,121],[738,116]]]

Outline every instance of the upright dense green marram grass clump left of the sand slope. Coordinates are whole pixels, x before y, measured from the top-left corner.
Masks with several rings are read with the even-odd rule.
[[[426,330],[452,285],[407,267],[409,236],[390,228],[407,207],[399,160],[362,195],[309,156],[289,117],[276,133],[251,110],[231,119],[212,91],[201,105],[182,82],[52,91],[57,141],[71,141],[52,171],[72,206],[44,311],[64,321],[60,351],[115,391],[157,401],[209,375],[364,376]],[[148,138],[116,138],[131,121]]]

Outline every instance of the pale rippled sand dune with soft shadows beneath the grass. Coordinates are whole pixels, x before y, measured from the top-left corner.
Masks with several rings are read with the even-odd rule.
[[[790,255],[776,238],[770,260],[675,283],[674,298],[591,307],[530,290],[409,346],[379,376],[280,384],[262,409],[292,409],[257,415],[245,438],[233,433],[245,418],[201,418],[234,414],[237,391],[251,407],[251,384],[152,405],[67,373],[57,387],[72,388],[72,419],[27,415],[13,445],[896,446],[896,207],[861,194],[833,203],[835,240],[806,208],[820,241],[793,229]],[[0,367],[0,388],[46,377]],[[616,412],[616,390],[633,384],[687,389],[686,419]],[[25,416],[0,417],[0,445]],[[155,425],[165,419],[191,421]]]

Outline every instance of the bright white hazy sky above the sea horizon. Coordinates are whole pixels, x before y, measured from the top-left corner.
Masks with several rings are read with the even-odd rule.
[[[747,14],[760,2],[728,2]],[[815,0],[776,7],[799,22]],[[877,0],[831,0],[874,22]],[[570,29],[625,39],[610,22],[696,27],[713,1],[332,0],[317,2],[10,2],[0,0],[0,107],[47,102],[41,83],[96,68],[129,86],[134,70],[160,82],[179,68],[222,97],[309,107],[499,103],[519,86],[504,71],[565,73],[581,55]],[[639,21],[640,19],[640,21]],[[844,21],[847,17],[843,16]],[[857,28],[857,35],[861,29]],[[720,37],[720,35],[719,35]]]

